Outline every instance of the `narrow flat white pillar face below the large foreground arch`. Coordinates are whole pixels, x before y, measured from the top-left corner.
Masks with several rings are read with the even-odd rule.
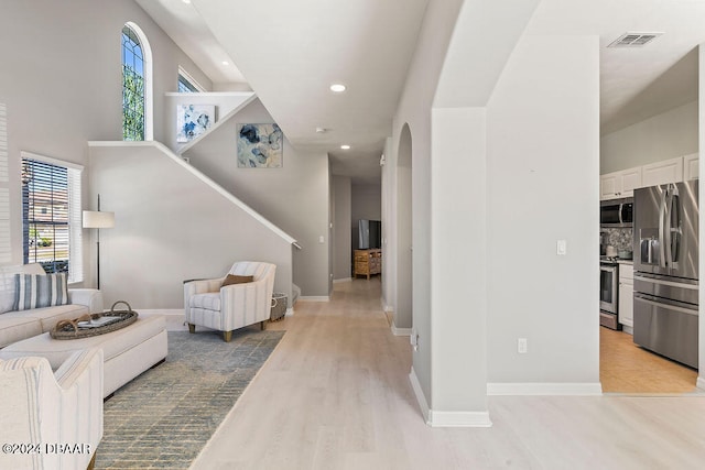
[[[487,425],[486,109],[432,116],[432,408]]]

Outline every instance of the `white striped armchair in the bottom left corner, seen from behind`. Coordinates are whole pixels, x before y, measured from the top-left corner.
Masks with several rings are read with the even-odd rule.
[[[93,468],[102,438],[102,350],[0,360],[0,468]]]

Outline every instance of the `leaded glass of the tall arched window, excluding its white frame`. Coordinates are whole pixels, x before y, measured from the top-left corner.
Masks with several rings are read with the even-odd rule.
[[[122,28],[122,140],[144,140],[144,54],[127,24]]]

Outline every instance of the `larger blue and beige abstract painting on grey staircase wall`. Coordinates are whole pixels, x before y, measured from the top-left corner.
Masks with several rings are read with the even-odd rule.
[[[278,124],[238,124],[238,167],[281,168],[284,135]]]

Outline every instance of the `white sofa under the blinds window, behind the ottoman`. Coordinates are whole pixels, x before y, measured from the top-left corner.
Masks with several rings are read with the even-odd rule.
[[[58,320],[102,311],[102,294],[95,288],[68,289],[68,304],[12,310],[15,274],[44,275],[37,263],[0,266],[0,348],[51,330]]]

